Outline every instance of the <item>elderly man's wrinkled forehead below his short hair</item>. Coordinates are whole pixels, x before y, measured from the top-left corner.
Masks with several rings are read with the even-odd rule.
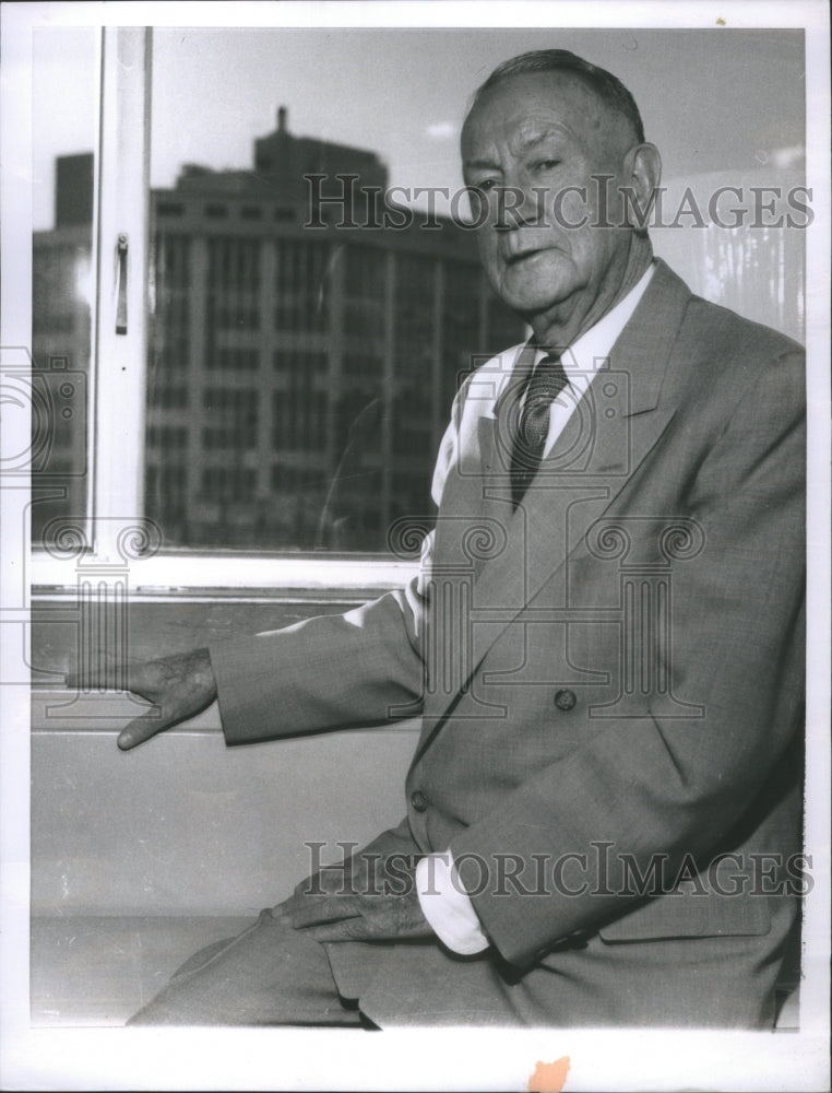
[[[610,149],[627,139],[628,128],[579,74],[524,73],[507,77],[476,101],[462,128],[462,157],[476,158],[492,144],[507,144],[520,154],[549,133]]]

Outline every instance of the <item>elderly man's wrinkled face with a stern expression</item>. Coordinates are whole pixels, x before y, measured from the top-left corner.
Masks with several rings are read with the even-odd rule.
[[[472,110],[462,158],[466,185],[488,202],[480,257],[514,310],[531,319],[564,303],[585,308],[622,275],[630,230],[593,223],[620,224],[618,188],[628,183],[623,161],[634,143],[626,121],[567,72],[510,77]],[[615,176],[606,216],[598,215],[597,175]],[[568,187],[584,188],[585,198],[564,193]],[[581,227],[566,226],[584,218]]]

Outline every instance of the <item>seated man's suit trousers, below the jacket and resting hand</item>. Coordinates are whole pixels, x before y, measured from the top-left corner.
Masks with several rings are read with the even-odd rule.
[[[781,944],[789,921],[786,908],[774,916]],[[128,1024],[771,1029],[780,960],[761,959],[759,942],[596,936],[523,974],[494,953],[457,957],[430,941],[323,945],[263,910],[191,956]],[[391,966],[395,997],[376,978]]]

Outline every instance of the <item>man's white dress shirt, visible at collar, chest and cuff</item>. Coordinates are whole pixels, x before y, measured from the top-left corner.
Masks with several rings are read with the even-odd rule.
[[[589,390],[596,372],[606,362],[652,277],[651,265],[623,299],[562,352],[560,360],[569,384],[551,403],[544,456],[551,450]],[[511,377],[522,348],[514,345],[492,357],[472,377],[462,413],[454,415],[439,446],[431,490],[437,506],[441,503],[445,478],[454,462],[463,457],[478,458],[477,422],[480,418],[494,418],[495,404]],[[544,350],[537,351],[535,367],[545,355]],[[420,589],[427,586],[430,578],[432,548],[431,531],[423,543]],[[416,866],[416,890],[425,918],[440,941],[452,952],[468,956],[488,948],[488,938],[479,926],[474,905],[459,879],[450,851],[429,854],[421,858]]]

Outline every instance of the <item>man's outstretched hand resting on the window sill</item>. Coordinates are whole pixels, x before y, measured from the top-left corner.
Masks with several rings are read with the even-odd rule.
[[[90,673],[69,672],[67,686],[84,685],[127,689],[153,707],[134,718],[119,733],[118,745],[122,751],[150,740],[189,717],[202,713],[216,698],[216,683],[207,649],[180,653],[145,663],[119,665],[111,662],[95,678]]]

